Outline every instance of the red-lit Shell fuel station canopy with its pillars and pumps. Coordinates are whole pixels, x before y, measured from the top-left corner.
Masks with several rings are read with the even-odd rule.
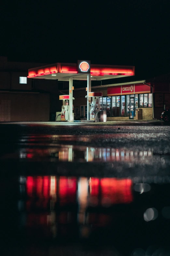
[[[102,116],[100,111],[100,97],[102,92],[91,92],[91,81],[102,81],[119,77],[129,77],[135,75],[134,66],[118,65],[95,65],[88,60],[78,60],[78,63],[54,63],[47,66],[36,67],[28,70],[28,78],[35,79],[58,79],[59,81],[69,81],[69,95],[60,95],[59,100],[63,100],[61,110],[61,121],[74,121],[73,113],[73,80],[87,80],[87,121],[94,121],[96,113]],[[100,112],[101,115],[100,115]],[[105,121],[105,116],[102,118]]]

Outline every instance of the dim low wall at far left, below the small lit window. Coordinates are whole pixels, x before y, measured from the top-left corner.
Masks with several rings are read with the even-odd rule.
[[[49,121],[50,95],[0,93],[0,121]]]

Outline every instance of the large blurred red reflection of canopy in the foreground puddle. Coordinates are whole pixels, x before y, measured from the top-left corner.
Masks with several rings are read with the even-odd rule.
[[[108,224],[109,214],[100,213],[98,207],[133,201],[131,179],[22,176],[19,181],[24,187],[20,213],[26,210],[24,226],[33,237],[88,237],[92,224]]]

